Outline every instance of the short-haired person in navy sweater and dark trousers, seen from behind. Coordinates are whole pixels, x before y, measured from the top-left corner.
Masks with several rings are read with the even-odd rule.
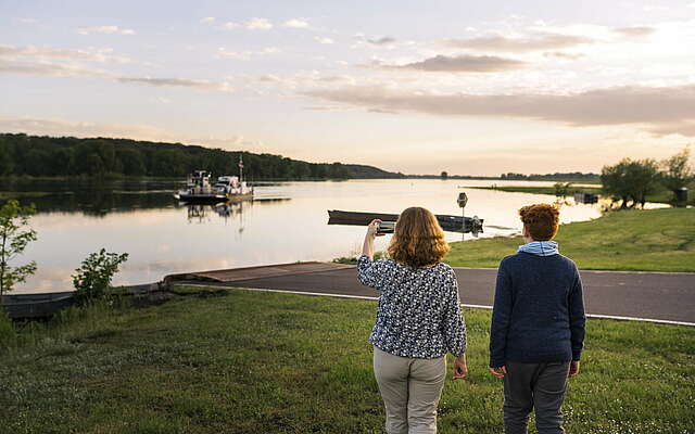
[[[539,434],[564,433],[567,379],[579,373],[584,345],[582,281],[551,241],[558,209],[519,209],[523,241],[500,264],[490,330],[490,371],[504,380],[504,432],[526,434],[535,410]]]

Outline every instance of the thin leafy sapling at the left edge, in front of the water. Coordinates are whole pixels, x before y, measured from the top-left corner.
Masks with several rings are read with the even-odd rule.
[[[36,271],[35,261],[17,267],[10,265],[28,243],[36,240],[36,231],[26,228],[35,213],[34,205],[20,206],[15,200],[0,207],[0,296]]]

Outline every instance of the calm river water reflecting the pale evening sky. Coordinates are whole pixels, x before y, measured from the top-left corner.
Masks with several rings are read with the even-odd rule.
[[[31,182],[0,184],[0,188],[26,191],[33,196],[22,202],[34,202],[38,208],[31,226],[39,239],[27,247],[23,258],[36,260],[38,271],[17,291],[36,292],[71,289],[74,269],[89,253],[101,247],[130,254],[115,283],[146,283],[174,272],[355,255],[362,247],[365,228],[328,226],[327,209],[397,214],[407,206],[418,205],[435,214],[460,215],[456,197],[465,191],[469,197],[466,215],[483,218],[485,233],[481,237],[494,237],[520,230],[516,214],[519,207],[555,201],[554,196],[460,188],[492,182],[497,186],[553,183],[282,182],[257,186],[253,202],[220,207],[179,205],[172,196],[179,187],[175,182],[109,186]],[[599,215],[599,205],[578,205],[571,199],[561,207],[563,222]],[[377,250],[384,250],[389,238],[378,239]],[[460,233],[447,232],[450,241],[460,238]]]

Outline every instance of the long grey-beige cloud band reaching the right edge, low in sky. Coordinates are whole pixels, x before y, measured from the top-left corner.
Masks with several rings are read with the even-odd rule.
[[[303,94],[370,111],[516,117],[571,126],[642,124],[650,132],[659,135],[692,135],[695,123],[695,85],[627,86],[566,94],[441,94],[353,86],[316,89]]]

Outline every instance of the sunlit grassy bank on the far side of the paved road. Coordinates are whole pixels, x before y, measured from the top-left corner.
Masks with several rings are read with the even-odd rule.
[[[695,209],[621,210],[561,225],[560,253],[582,269],[695,271]],[[454,267],[497,267],[523,244],[521,237],[452,243]]]

